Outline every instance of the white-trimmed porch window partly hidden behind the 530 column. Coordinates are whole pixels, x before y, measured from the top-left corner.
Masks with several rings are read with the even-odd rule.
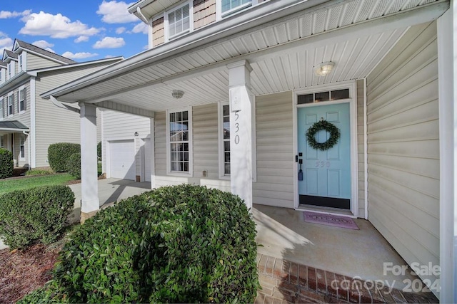
[[[257,180],[256,152],[256,102],[251,103],[251,140],[252,140],[252,180]],[[219,178],[230,178],[230,106],[228,102],[219,103]]]

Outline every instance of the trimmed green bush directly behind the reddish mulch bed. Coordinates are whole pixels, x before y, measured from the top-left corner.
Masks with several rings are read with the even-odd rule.
[[[59,238],[74,206],[66,186],[36,187],[0,196],[0,236],[11,248]]]

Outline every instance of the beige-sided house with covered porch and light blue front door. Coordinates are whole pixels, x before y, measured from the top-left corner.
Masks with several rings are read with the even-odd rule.
[[[439,277],[441,301],[456,302],[455,1],[141,0],[129,11],[149,24],[148,51],[42,95],[81,105],[81,216],[99,209],[91,115],[103,108],[108,176],[367,219],[410,265],[441,266],[421,278]],[[324,151],[305,138],[321,119],[341,131]]]

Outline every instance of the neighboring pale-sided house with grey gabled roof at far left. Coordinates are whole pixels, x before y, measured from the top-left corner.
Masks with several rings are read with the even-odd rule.
[[[14,165],[48,167],[49,145],[81,140],[79,114],[57,108],[40,93],[122,59],[76,63],[17,39],[11,51],[5,49],[0,61],[0,147],[13,152]]]

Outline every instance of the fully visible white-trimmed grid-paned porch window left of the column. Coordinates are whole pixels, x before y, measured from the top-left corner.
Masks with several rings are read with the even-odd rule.
[[[192,175],[192,111],[191,108],[167,111],[167,171]]]

